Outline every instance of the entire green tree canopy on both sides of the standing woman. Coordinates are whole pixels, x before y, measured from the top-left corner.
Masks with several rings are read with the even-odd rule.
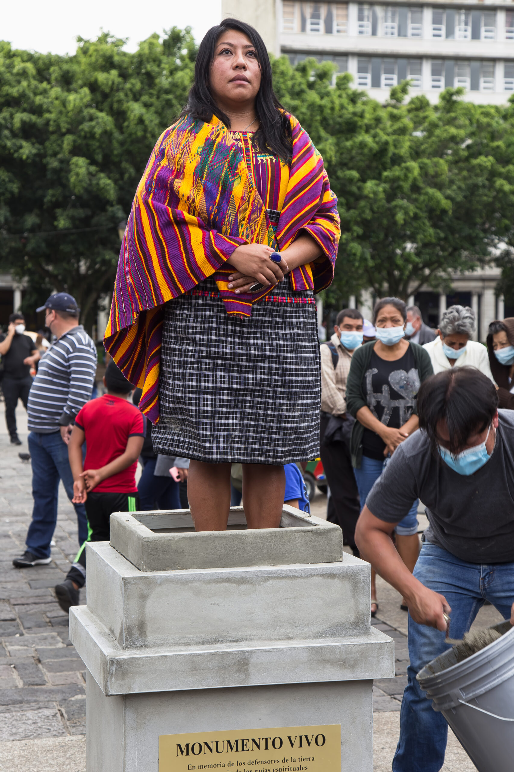
[[[67,289],[91,325],[113,286],[117,226],[157,137],[179,115],[193,77],[190,30],[153,35],[135,53],[102,34],[74,56],[0,42],[0,261],[25,277],[26,310]],[[514,106],[481,106],[447,89],[432,105],[385,104],[348,74],[307,59],[272,59],[274,87],[324,157],[341,215],[339,303],[371,287],[406,298],[514,246]],[[506,271],[512,260],[505,257]]]

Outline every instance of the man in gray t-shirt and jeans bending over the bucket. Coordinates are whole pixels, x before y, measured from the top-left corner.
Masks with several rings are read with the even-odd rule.
[[[398,445],[375,482],[355,540],[408,603],[408,684],[393,772],[438,772],[448,725],[416,674],[462,638],[489,601],[514,624],[514,411],[498,410],[494,384],[474,367],[452,367],[418,392],[420,431]],[[391,541],[419,498],[430,527],[414,574]]]

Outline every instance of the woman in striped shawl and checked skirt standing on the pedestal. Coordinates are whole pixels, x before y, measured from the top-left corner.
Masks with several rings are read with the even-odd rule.
[[[192,459],[197,530],[227,527],[232,462],[248,527],[278,527],[284,463],[318,453],[313,290],[334,274],[336,203],[257,31],[210,29],[183,116],[136,191],[106,330],[143,387],[156,451]]]

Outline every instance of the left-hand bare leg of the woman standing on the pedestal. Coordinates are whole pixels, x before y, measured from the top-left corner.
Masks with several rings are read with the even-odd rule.
[[[190,462],[187,499],[195,530],[227,530],[231,464]]]

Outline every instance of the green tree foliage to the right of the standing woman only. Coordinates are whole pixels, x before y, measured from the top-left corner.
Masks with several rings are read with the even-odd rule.
[[[338,195],[341,242],[328,297],[371,287],[402,298],[490,259],[512,225],[509,110],[462,100],[405,103],[408,83],[379,104],[350,76],[307,59],[274,60],[277,90],[324,157]],[[512,110],[512,107],[510,108]]]

